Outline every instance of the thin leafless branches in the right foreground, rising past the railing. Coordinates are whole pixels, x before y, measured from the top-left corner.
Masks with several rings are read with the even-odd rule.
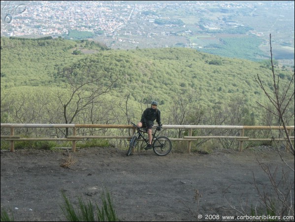
[[[262,88],[263,92],[267,96],[271,105],[269,103],[267,105],[262,105],[261,103],[258,103],[258,104],[262,106],[268,112],[268,114],[270,114],[268,115],[269,119],[274,117],[276,118],[277,123],[283,126],[284,128],[283,132],[286,136],[285,140],[286,142],[288,142],[290,151],[294,155],[294,146],[291,142],[290,135],[286,128],[286,121],[285,121],[285,116],[288,116],[286,115],[286,112],[288,112],[288,107],[293,106],[292,102],[294,100],[294,74],[290,82],[288,82],[287,85],[282,87],[280,84],[279,76],[276,76],[274,72],[274,65],[272,61],[272,50],[271,50],[271,35],[269,36],[269,38],[270,38],[273,91],[270,91],[270,92],[268,91],[268,89],[262,83],[262,79],[260,78],[259,75],[257,75],[256,81]],[[294,112],[293,112],[293,116],[294,116]],[[270,120],[269,124],[271,123],[272,121]],[[277,150],[279,151],[278,148]],[[263,187],[260,187],[260,185],[256,182],[256,178],[253,172],[254,183],[261,199],[261,205],[251,206],[250,207],[251,213],[253,215],[259,216],[262,214],[262,212],[267,212],[268,215],[276,216],[277,221],[293,221],[294,220],[294,179],[290,177],[290,175],[294,175],[294,166],[292,166],[292,164],[288,164],[287,161],[284,160],[280,151],[279,151],[279,154],[284,164],[291,170],[291,174],[290,174],[290,171],[286,171],[284,170],[284,168],[282,168],[282,173],[280,176],[278,173],[278,167],[275,167],[275,169],[272,171],[269,166],[258,161],[262,170],[268,176],[269,183],[272,186],[272,189],[265,190]],[[247,208],[246,210],[244,210],[245,208],[242,205],[240,206],[240,210],[236,209],[235,206],[231,205],[230,203],[229,203],[229,206],[241,215],[249,214],[249,209]],[[246,207],[248,207],[248,204],[246,205]],[[287,219],[284,219],[283,218],[284,216],[287,216]]]

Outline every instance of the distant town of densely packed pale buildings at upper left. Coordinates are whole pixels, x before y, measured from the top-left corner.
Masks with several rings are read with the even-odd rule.
[[[183,4],[175,1],[1,1],[1,36],[62,36],[68,30],[89,31],[105,35],[116,35],[127,23],[137,23],[140,20],[155,24],[155,19],[161,19],[155,13],[143,13],[183,7],[185,10],[200,10],[199,7],[218,6],[220,8],[254,8],[255,4],[235,2],[194,1]],[[239,2],[239,1],[238,1]],[[19,6],[23,11],[16,11]],[[5,21],[7,15],[11,19]],[[4,20],[3,20],[4,16]],[[208,27],[218,29],[217,27]],[[131,32],[131,31],[130,31]],[[142,35],[142,32],[137,32]],[[146,35],[151,35],[146,34]],[[165,35],[165,33],[162,33]]]

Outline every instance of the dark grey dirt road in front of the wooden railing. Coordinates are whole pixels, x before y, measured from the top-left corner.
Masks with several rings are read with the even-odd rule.
[[[68,155],[76,162],[61,167]],[[294,156],[284,157],[294,168]],[[116,148],[1,151],[1,211],[12,212],[15,221],[65,221],[62,190],[74,204],[82,197],[100,205],[107,189],[120,221],[210,221],[205,215],[236,214],[227,201],[239,209],[241,202],[260,201],[253,173],[260,189],[271,190],[258,161],[272,170],[278,166],[278,174],[285,168],[269,148],[164,157],[152,150],[126,156],[126,150]],[[294,182],[294,173],[291,177]]]

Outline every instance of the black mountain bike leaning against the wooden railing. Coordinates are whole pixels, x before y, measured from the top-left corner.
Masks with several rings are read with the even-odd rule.
[[[130,141],[130,145],[129,145],[129,149],[126,153],[127,156],[129,156],[133,149],[135,148],[137,141],[142,138],[143,141],[148,145],[149,144],[149,139],[147,136],[147,129],[146,128],[140,128],[138,126],[136,126],[134,123],[131,122],[131,125],[136,127],[136,131]],[[169,140],[168,137],[165,136],[160,136],[157,137],[156,136],[156,132],[161,130],[161,127],[158,126],[157,128],[155,128],[155,130],[152,133],[153,139],[152,139],[152,148],[154,150],[154,152],[159,155],[159,156],[165,156],[167,155],[172,148],[172,144],[171,141]]]

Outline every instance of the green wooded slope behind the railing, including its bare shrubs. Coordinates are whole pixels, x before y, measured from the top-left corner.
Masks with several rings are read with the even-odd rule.
[[[271,92],[269,62],[189,48],[107,50],[60,37],[1,37],[0,47],[3,123],[128,124],[139,120],[151,100],[159,101],[164,124],[269,121],[257,104],[267,99],[255,80],[259,75]],[[291,79],[288,67],[275,69],[283,84]],[[288,113],[292,124],[294,108]]]

